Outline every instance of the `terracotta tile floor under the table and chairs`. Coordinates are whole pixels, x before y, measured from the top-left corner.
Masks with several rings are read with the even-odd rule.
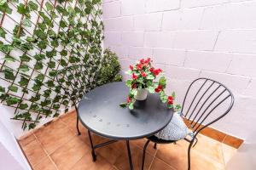
[[[93,162],[87,131],[80,124],[82,135],[77,136],[75,122],[75,112],[70,112],[20,138],[20,145],[33,169],[129,169],[123,141],[96,150],[97,161]],[[92,138],[95,143],[108,140],[94,134]],[[199,142],[191,152],[192,169],[225,169],[225,164],[235,154],[236,149],[201,134],[198,138]],[[145,139],[131,141],[131,154],[135,169],[141,167],[144,143]],[[184,140],[178,141],[177,144],[158,145],[157,150],[153,149],[153,144],[149,144],[145,169],[187,169],[187,148],[188,143]]]

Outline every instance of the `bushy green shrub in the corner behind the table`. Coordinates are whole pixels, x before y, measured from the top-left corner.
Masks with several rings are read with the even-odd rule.
[[[121,66],[116,54],[109,49],[105,49],[102,57],[102,66],[97,76],[97,85],[108,82],[121,82],[122,76],[119,74]]]

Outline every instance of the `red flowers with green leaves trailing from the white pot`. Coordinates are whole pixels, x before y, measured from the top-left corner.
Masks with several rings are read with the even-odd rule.
[[[140,59],[136,65],[130,65],[130,70],[126,73],[131,75],[131,79],[126,81],[126,86],[130,88],[130,93],[127,96],[126,102],[120,104],[121,107],[129,107],[132,110],[138,90],[147,89],[151,94],[160,94],[160,100],[163,103],[167,103],[169,109],[173,108],[177,111],[181,108],[180,105],[174,105],[174,92],[172,95],[165,93],[166,77],[163,76],[161,69],[154,68],[150,58]]]

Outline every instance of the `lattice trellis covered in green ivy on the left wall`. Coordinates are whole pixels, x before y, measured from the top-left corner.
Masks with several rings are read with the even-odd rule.
[[[99,70],[101,5],[101,0],[0,0],[0,99],[15,108],[12,119],[22,121],[23,129],[68,110],[57,71],[71,65]]]

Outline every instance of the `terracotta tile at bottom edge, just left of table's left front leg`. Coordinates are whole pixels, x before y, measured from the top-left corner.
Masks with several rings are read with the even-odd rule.
[[[78,137],[74,137],[66,144],[61,145],[50,157],[59,169],[68,170],[87,152],[90,152],[90,147]]]

